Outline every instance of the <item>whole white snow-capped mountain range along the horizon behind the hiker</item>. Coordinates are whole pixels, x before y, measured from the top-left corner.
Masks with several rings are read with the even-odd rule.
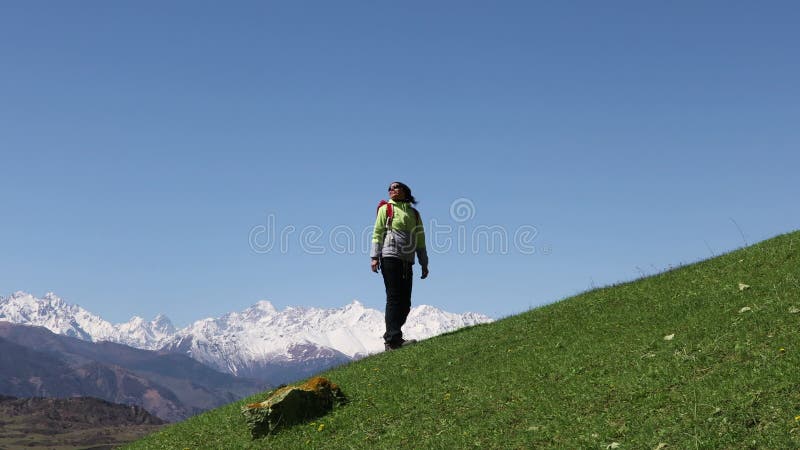
[[[0,297],[0,320],[39,325],[84,340],[107,340],[148,350],[182,353],[238,376],[283,382],[383,350],[383,313],[358,301],[337,309],[287,307],[260,301],[241,312],[175,330],[165,316],[134,317],[112,325],[52,293],[43,299],[16,292]],[[454,314],[432,306],[411,309],[406,339],[426,339],[491,322],[475,313]]]

